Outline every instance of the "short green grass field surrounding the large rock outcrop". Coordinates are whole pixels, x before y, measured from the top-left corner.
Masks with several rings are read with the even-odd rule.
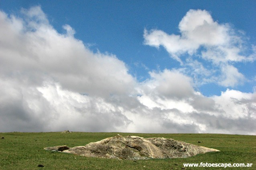
[[[190,158],[113,160],[86,158],[43,150],[45,147],[83,146],[107,137],[135,135],[144,138],[164,137],[220,150]],[[4,139],[2,139],[4,137]],[[198,143],[200,141],[201,143]],[[183,163],[252,163],[250,168],[184,167]],[[44,167],[38,167],[41,164]],[[256,170],[256,136],[227,134],[134,134],[61,132],[0,133],[0,170]]]

